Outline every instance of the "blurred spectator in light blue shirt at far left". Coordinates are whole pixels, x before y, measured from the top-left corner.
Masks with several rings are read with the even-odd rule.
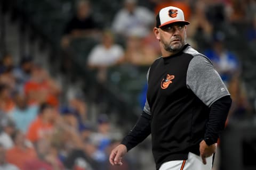
[[[10,116],[15,122],[16,128],[26,134],[30,123],[37,116],[38,106],[28,105],[25,95],[18,92],[14,95],[14,102],[15,108],[10,113]]]

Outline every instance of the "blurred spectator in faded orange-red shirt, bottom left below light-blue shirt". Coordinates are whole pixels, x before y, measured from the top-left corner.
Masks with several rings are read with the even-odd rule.
[[[17,130],[12,135],[14,146],[7,150],[6,160],[7,162],[18,166],[21,170],[25,169],[25,164],[28,160],[37,157],[36,150],[33,145],[26,140],[25,134]]]

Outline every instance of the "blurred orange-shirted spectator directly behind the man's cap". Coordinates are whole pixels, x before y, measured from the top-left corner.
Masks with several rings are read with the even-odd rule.
[[[185,20],[189,21],[190,18],[190,6],[188,3],[185,2],[180,2],[180,1],[162,1],[161,3],[158,3],[155,7],[155,14],[158,14],[158,12],[166,7],[166,6],[175,6],[180,8],[183,13],[185,14]]]

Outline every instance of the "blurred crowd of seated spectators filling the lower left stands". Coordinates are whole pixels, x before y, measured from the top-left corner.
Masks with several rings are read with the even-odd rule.
[[[108,169],[120,137],[107,114],[87,120],[81,93],[61,104],[61,84],[30,56],[14,65],[6,54],[0,69],[1,169]]]

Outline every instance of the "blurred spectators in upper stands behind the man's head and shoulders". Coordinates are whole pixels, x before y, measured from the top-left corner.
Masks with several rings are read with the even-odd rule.
[[[243,46],[244,43],[239,42],[242,40],[246,41],[245,46],[251,49],[255,47],[254,0],[151,0],[145,3],[124,0],[112,23],[104,28],[93,17],[92,4],[90,1],[77,2],[77,13],[67,23],[61,45],[63,50],[67,50],[71,48],[70,42],[74,39],[91,38],[98,41],[85,58],[87,67],[98,72],[100,82],[107,81],[109,68],[127,64],[133,67],[150,66],[161,56],[153,32],[155,16],[164,6],[177,6],[184,11],[186,20],[190,22],[187,43],[210,58],[233,96],[230,115],[241,118],[252,112],[241,77],[243,56],[239,56],[241,54],[238,55],[229,44],[238,41]],[[146,86],[145,83],[145,88],[141,89],[142,105]]]

